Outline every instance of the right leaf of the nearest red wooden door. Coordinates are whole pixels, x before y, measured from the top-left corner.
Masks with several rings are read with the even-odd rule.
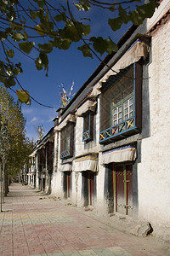
[[[127,211],[126,214],[133,215],[133,166],[126,165],[126,187],[127,187]]]

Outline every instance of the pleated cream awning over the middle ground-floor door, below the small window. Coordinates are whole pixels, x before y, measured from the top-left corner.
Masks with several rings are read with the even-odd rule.
[[[74,172],[92,171],[98,172],[98,158],[94,154],[77,158],[73,165]]]

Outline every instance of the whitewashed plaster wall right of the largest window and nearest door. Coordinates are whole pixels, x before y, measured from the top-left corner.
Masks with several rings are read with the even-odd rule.
[[[139,218],[156,234],[170,228],[170,22],[152,37],[149,65],[150,137],[142,140],[138,164]]]

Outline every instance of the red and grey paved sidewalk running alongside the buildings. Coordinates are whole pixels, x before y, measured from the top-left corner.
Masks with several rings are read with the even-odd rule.
[[[0,255],[170,255],[155,237],[127,235],[65,201],[13,183],[0,212]]]

